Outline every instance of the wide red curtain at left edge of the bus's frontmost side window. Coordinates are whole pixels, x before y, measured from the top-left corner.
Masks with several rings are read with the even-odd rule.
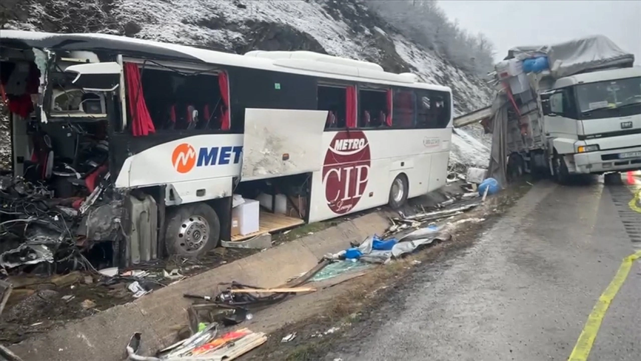
[[[129,115],[131,116],[131,134],[133,136],[147,136],[156,132],[149,109],[142,94],[142,82],[140,82],[140,70],[137,64],[125,63],[124,76],[127,87],[127,100],[129,103]]]

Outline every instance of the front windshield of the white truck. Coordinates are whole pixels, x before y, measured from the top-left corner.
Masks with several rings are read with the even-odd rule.
[[[641,77],[576,86],[583,118],[613,118],[641,114]]]

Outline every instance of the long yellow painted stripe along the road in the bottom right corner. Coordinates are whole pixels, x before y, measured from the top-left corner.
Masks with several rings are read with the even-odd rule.
[[[568,361],[587,361],[588,355],[590,355],[590,350],[592,349],[592,344],[594,344],[594,339],[596,339],[597,333],[599,333],[603,317],[605,316],[608,307],[610,307],[610,303],[612,303],[614,296],[619,292],[619,288],[621,288],[623,283],[626,281],[630,269],[632,268],[632,263],[638,260],[638,258],[641,258],[641,251],[631,254],[623,259],[619,266],[619,270],[617,270],[617,274],[610,282],[610,285],[608,285],[608,288],[606,288],[603,294],[601,294],[599,301],[597,301],[597,304],[595,304],[592,312],[588,316],[588,322],[585,322],[583,331],[581,331],[581,335],[579,335],[579,339],[576,341],[576,345],[574,346],[574,349],[572,349],[572,353],[570,354]]]

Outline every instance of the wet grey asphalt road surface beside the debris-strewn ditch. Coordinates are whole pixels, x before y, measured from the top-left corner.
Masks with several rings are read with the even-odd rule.
[[[567,360],[622,258],[641,248],[631,198],[624,186],[537,183],[470,249],[419,271],[399,290],[399,311],[388,307],[357,347],[328,359]],[[641,360],[641,260],[588,360]]]

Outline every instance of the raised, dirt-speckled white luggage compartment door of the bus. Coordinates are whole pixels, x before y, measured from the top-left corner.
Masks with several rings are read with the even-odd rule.
[[[325,110],[246,109],[241,179],[320,170],[327,114]]]

